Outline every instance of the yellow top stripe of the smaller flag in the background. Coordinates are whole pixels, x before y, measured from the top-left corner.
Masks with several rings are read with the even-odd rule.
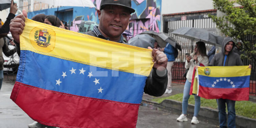
[[[236,71],[237,73],[234,73]],[[251,69],[248,66],[214,66],[199,67],[198,74],[209,77],[237,77],[251,75]]]

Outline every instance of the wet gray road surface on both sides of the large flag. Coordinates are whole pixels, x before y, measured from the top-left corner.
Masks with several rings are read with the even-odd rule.
[[[10,82],[5,75],[0,91],[0,128],[28,128],[28,124],[34,121],[10,99],[13,85],[14,82]],[[139,109],[137,128],[217,127],[207,122],[192,125],[190,124],[190,119],[187,122],[177,122],[176,118],[179,115],[180,112],[167,112],[154,105],[142,103]]]

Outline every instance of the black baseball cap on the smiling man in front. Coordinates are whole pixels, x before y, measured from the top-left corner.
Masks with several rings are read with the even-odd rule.
[[[130,13],[135,12],[135,10],[131,8],[131,0],[101,0],[100,10],[102,10],[105,5],[120,5],[126,7]]]

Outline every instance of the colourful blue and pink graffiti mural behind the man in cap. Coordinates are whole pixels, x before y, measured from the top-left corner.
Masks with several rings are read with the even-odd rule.
[[[99,23],[97,10],[100,8],[101,0],[91,0],[97,9],[95,8],[83,8],[83,7],[60,7],[58,17],[61,20],[65,20],[68,23],[70,30],[78,32],[80,23],[85,20],[91,20]],[[161,1],[162,0],[132,0],[132,8],[136,11],[131,15],[127,30],[132,33],[131,36],[146,31],[160,31],[161,25]],[[32,18],[36,14],[43,13],[45,15],[56,15],[57,9],[47,9],[30,12],[29,18]],[[66,10],[66,11],[65,11]],[[67,10],[72,10],[67,12]]]

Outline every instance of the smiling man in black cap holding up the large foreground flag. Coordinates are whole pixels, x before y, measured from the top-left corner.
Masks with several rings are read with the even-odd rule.
[[[131,0],[102,0],[100,10],[97,11],[99,26],[95,26],[93,31],[85,34],[110,40],[118,43],[124,43],[122,33],[129,24],[130,14],[135,12],[131,8]],[[23,32],[25,26],[25,16],[20,14],[16,16],[10,24],[12,36],[19,44],[19,34]],[[158,49],[152,50],[152,61],[154,66],[151,75],[147,77],[144,92],[152,96],[161,96],[165,93],[167,87],[167,62],[166,55]]]

